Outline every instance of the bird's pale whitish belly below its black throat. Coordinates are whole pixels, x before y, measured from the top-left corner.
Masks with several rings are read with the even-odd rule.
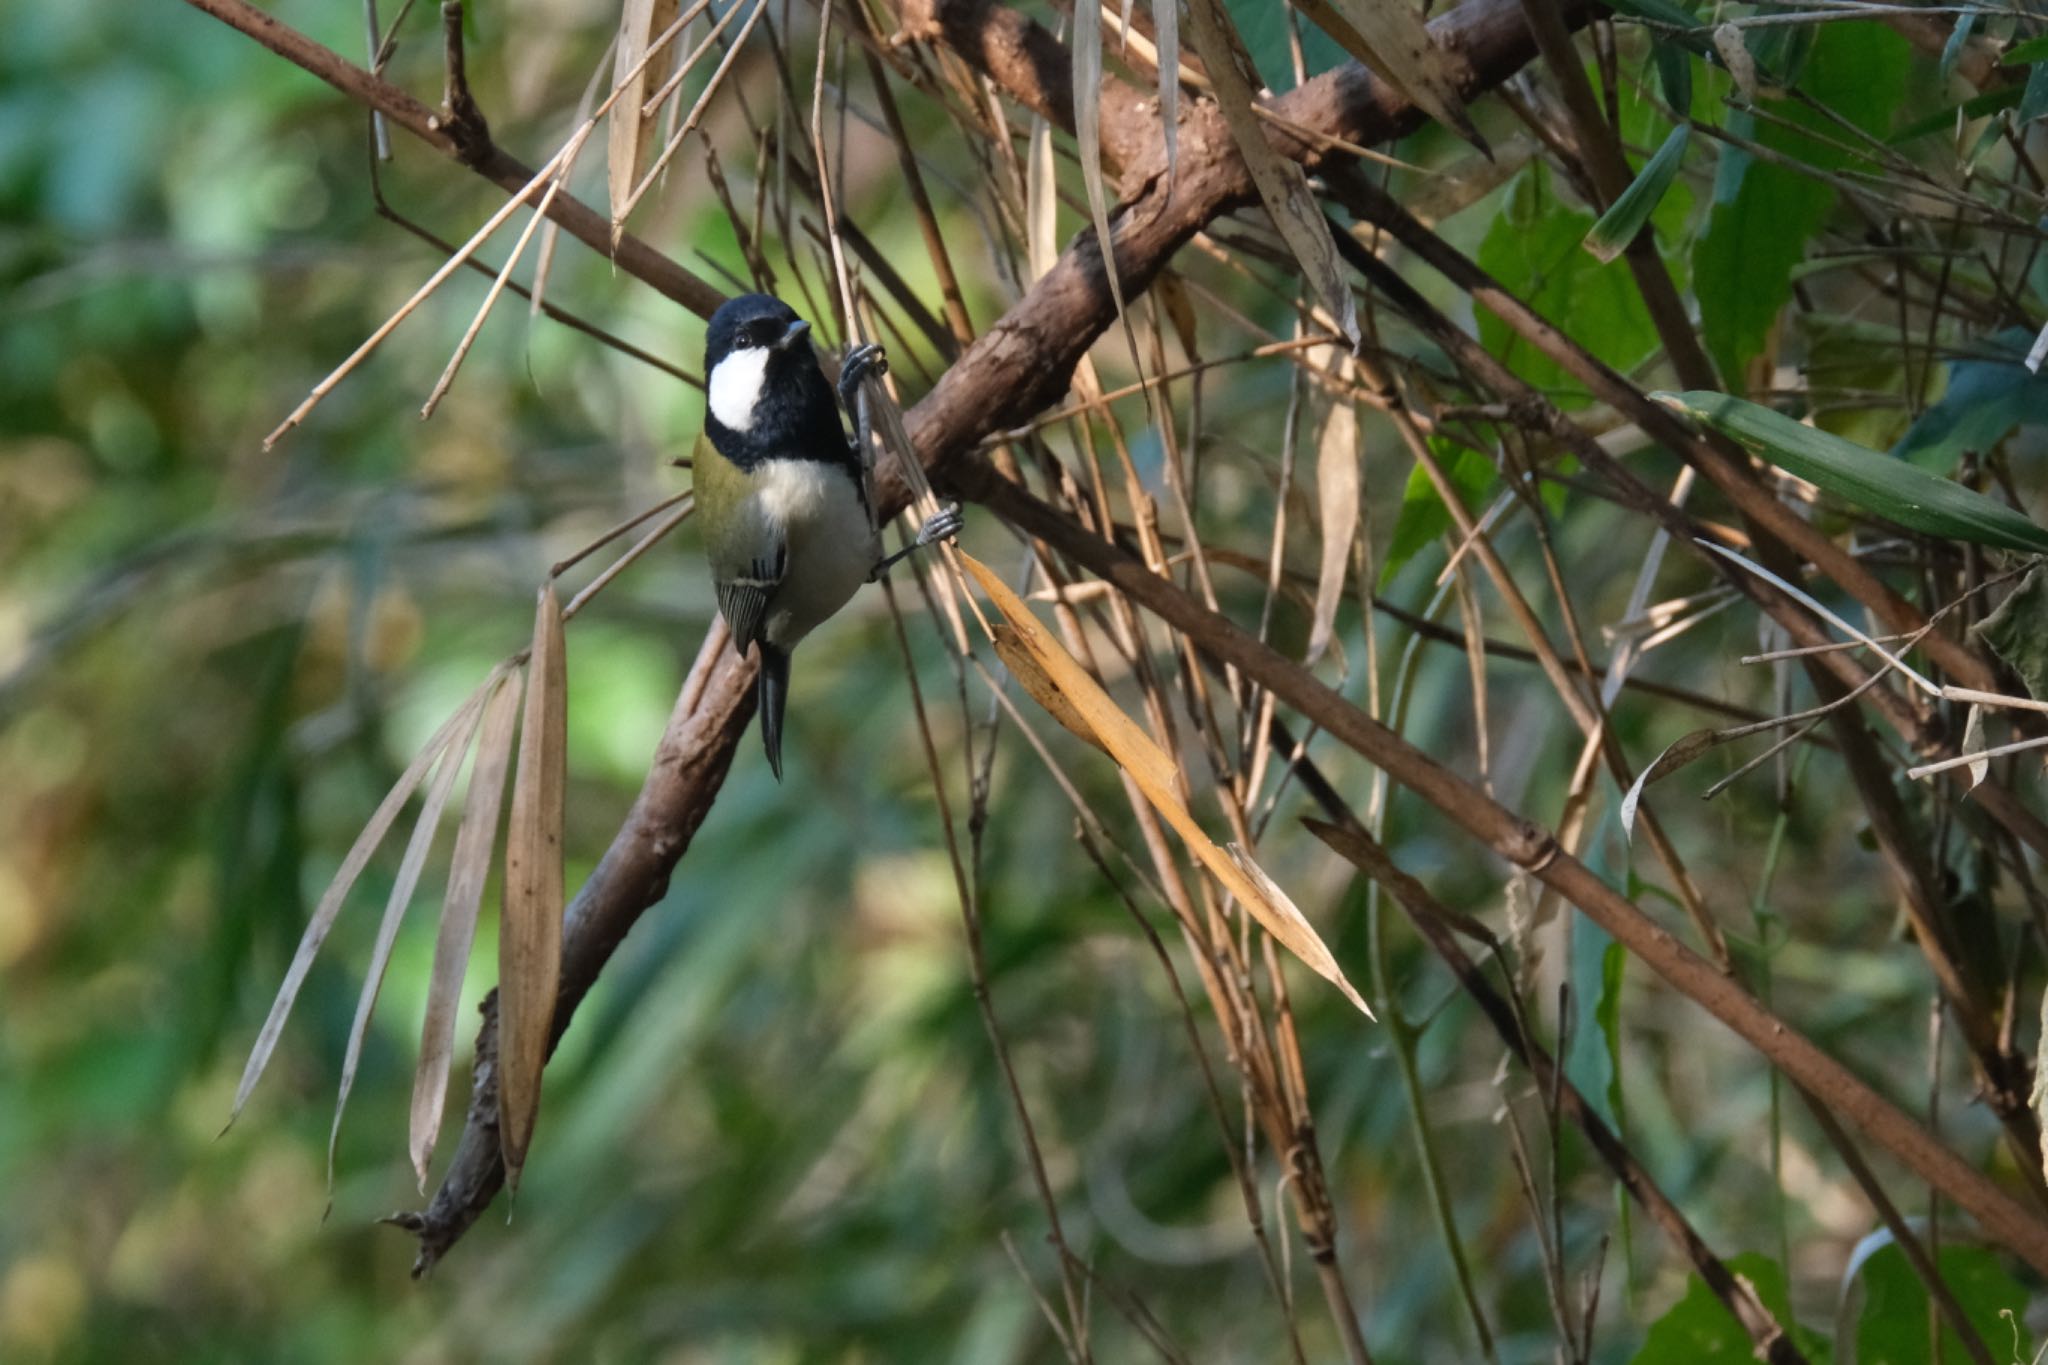
[[[756,473],[750,501],[788,546],[762,634],[776,649],[793,649],[868,581],[881,536],[860,505],[854,477],[838,465],[768,460]]]

